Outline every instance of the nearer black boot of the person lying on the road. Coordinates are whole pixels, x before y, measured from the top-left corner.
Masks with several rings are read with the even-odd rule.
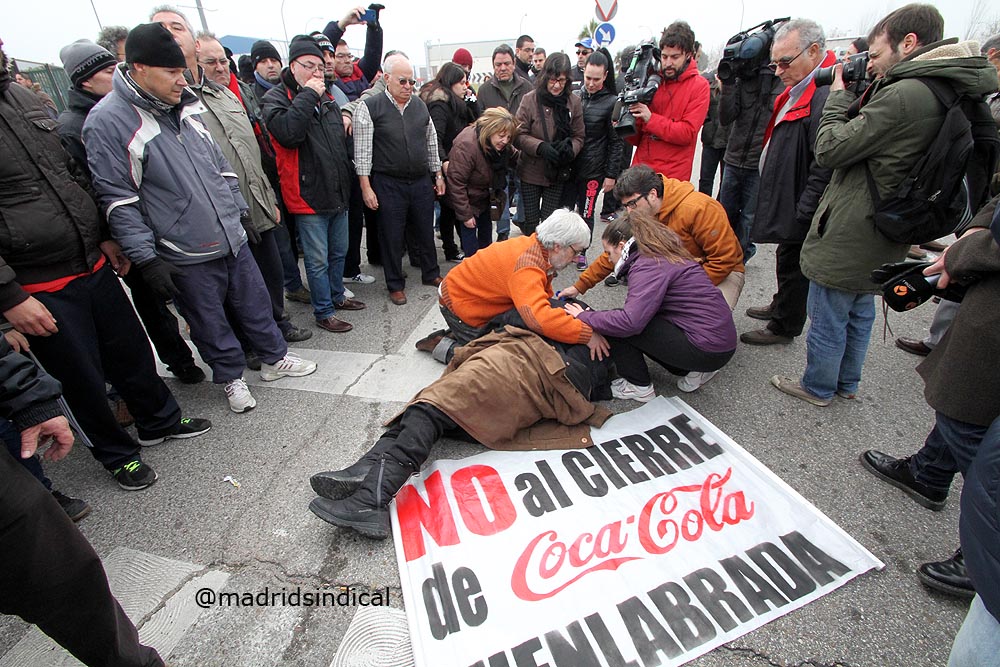
[[[384,540],[390,533],[389,501],[414,472],[383,454],[352,496],[343,500],[314,498],[309,510],[334,526],[352,528],[373,540]]]

